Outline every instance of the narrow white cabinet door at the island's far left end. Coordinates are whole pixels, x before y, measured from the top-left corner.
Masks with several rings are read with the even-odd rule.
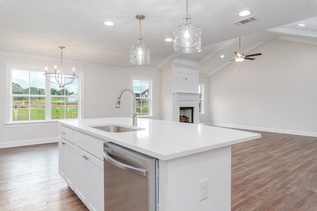
[[[74,190],[74,145],[65,139],[58,141],[58,173]]]

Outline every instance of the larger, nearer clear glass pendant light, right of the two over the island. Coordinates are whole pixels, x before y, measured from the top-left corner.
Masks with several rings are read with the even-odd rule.
[[[202,50],[201,36],[201,29],[191,23],[186,0],[186,17],[183,18],[183,25],[174,31],[173,50],[180,53],[199,52]]]

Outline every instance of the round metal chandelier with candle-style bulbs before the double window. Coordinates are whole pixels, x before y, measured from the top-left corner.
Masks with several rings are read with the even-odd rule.
[[[58,85],[59,88],[64,88],[65,85],[71,84],[77,79],[79,76],[75,75],[75,68],[73,68],[73,73],[63,73],[63,49],[64,46],[58,46],[60,48],[61,54],[61,68],[57,70],[57,66],[54,67],[54,72],[48,72],[48,68],[45,68],[46,79],[52,83]]]

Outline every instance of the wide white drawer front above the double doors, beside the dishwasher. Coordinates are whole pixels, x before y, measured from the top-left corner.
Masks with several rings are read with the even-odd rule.
[[[98,159],[104,160],[104,141],[75,131],[74,144],[86,152],[96,156]]]

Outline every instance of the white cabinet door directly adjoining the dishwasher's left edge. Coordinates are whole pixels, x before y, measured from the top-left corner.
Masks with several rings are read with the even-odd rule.
[[[104,162],[89,158],[89,210],[104,211]]]

